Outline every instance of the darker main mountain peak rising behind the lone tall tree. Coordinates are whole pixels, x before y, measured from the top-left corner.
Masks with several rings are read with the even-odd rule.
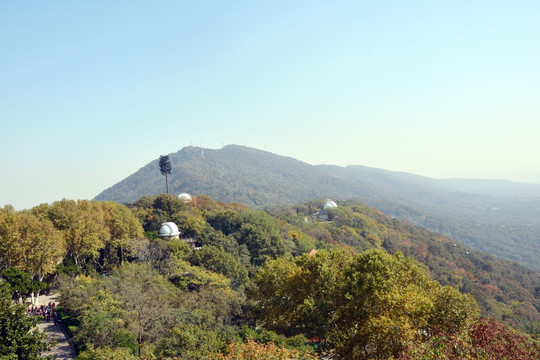
[[[248,206],[293,204],[316,197],[347,198],[361,191],[346,177],[301,161],[242,146],[221,150],[186,147],[170,154],[170,192],[204,194]],[[127,203],[165,191],[157,160],[96,196]]]

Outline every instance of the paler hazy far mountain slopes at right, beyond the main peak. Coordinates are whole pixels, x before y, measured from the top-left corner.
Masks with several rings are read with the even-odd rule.
[[[371,189],[361,200],[386,214],[540,270],[537,185],[435,180],[361,166],[334,172]]]

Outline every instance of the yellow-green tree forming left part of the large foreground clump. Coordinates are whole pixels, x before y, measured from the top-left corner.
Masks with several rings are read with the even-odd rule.
[[[263,326],[286,335],[325,338],[343,303],[341,287],[351,258],[349,251],[334,249],[266,262],[256,275],[254,295]]]

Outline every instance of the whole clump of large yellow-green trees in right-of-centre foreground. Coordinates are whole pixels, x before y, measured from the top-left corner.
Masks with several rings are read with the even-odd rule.
[[[320,251],[267,262],[256,276],[263,326],[324,339],[344,359],[387,359],[432,334],[467,333],[474,298],[400,253]]]

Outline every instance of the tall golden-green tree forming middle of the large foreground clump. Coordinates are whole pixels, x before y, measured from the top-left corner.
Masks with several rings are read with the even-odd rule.
[[[399,253],[370,250],[355,257],[346,278],[346,302],[331,334],[340,357],[387,359],[421,340],[436,288],[424,268]]]

